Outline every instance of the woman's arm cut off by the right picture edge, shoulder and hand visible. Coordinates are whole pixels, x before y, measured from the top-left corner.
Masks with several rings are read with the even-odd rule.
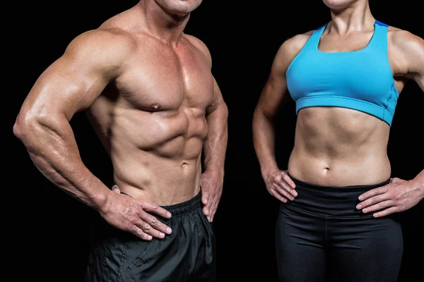
[[[415,81],[424,92],[424,40],[406,30],[399,30],[393,38],[399,54],[404,78]],[[424,197],[424,170],[412,180],[391,179],[391,183],[360,195],[357,208],[375,217],[411,209]]]

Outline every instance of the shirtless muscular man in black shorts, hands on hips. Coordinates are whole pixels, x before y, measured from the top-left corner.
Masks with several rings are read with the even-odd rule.
[[[207,47],[183,32],[200,4],[141,0],[78,35],[20,109],[35,166],[101,216],[87,281],[214,280],[228,110]],[[84,110],[122,193],[81,161],[69,121]]]

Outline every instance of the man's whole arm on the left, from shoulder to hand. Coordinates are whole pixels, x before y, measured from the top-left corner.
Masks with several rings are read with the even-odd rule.
[[[119,76],[132,48],[134,44],[128,38],[101,30],[88,31],[73,39],[63,56],[33,85],[13,133],[52,183],[98,210],[115,227],[149,239],[159,232],[146,233],[147,223],[140,216],[148,217],[141,208],[158,207],[124,199],[110,191],[81,161],[69,124],[73,114],[90,106],[105,86]],[[126,214],[119,214],[119,208],[127,210]]]

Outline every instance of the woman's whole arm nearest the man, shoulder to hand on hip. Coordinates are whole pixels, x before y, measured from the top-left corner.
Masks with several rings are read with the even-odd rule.
[[[273,121],[280,106],[290,99],[285,73],[309,37],[308,34],[296,35],[281,45],[273,59],[271,73],[254,110],[253,141],[262,178],[268,192],[281,202],[287,202],[287,199],[294,200],[297,192],[294,190],[295,183],[288,173],[278,168]]]

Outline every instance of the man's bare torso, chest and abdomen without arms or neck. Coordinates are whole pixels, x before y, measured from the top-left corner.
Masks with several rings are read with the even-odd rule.
[[[122,192],[161,205],[183,202],[200,189],[205,113],[213,103],[211,62],[199,39],[183,35],[172,46],[131,18],[125,11],[100,27],[121,32],[134,47],[88,117]]]

